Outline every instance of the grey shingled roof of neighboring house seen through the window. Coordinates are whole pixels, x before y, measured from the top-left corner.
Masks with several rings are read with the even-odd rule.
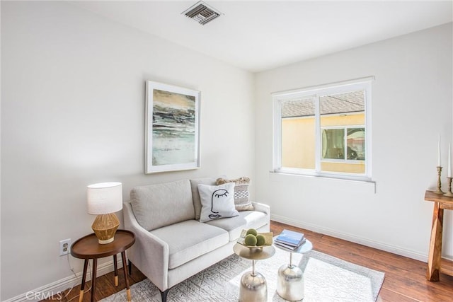
[[[321,96],[319,106],[321,115],[362,112],[365,111],[364,91]],[[287,100],[282,103],[282,117],[306,117],[313,115],[314,102],[311,98]]]

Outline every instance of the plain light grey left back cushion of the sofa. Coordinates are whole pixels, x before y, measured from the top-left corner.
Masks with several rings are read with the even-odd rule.
[[[195,219],[189,180],[134,187],[130,204],[137,222],[147,231]]]

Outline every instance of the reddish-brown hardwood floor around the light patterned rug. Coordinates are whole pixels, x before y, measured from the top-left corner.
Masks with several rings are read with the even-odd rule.
[[[338,257],[345,261],[376,269],[385,273],[384,284],[379,293],[380,301],[382,302],[450,302],[453,301],[453,277],[446,274],[440,275],[440,281],[430,282],[425,279],[426,263],[411,258],[402,257],[384,252],[375,248],[368,248],[364,245],[350,243],[345,240],[333,238],[320,233],[314,233],[302,228],[288,226],[283,223],[271,221],[270,231],[274,234],[280,233],[283,228],[288,228],[294,231],[305,233],[306,238],[309,238],[314,245],[314,250],[324,252],[328,255]],[[428,243],[427,243],[428,244]],[[453,262],[445,261],[442,265],[452,267]],[[145,279],[142,272],[136,267],[132,267],[132,275],[130,276],[130,285]],[[96,301],[101,300],[121,291],[125,288],[124,276],[119,272],[120,285],[114,286],[113,272],[105,274],[96,279]],[[86,284],[86,289],[89,289],[91,282]],[[69,294],[67,291],[60,301],[79,301],[80,286],[75,286]],[[84,295],[84,302],[90,301],[91,292],[88,291]],[[55,297],[54,297],[55,298]],[[48,299],[45,301],[55,301]],[[379,299],[378,299],[379,301]]]

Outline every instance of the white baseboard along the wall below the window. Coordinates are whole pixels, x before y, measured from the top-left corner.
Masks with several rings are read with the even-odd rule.
[[[348,234],[348,233],[340,233],[340,232],[332,230],[330,228],[324,228],[322,226],[317,226],[315,224],[304,223],[302,221],[296,221],[294,219],[289,219],[289,218],[284,217],[284,216],[270,214],[270,220],[281,222],[281,223],[285,223],[285,224],[289,224],[291,226],[297,226],[298,228],[304,228],[304,229],[309,230],[309,231],[314,231],[316,233],[321,233],[321,234],[332,236],[332,237],[335,237],[335,238],[348,240],[348,241],[353,242],[353,243],[359,243],[361,245],[366,245],[366,246],[368,246],[370,248],[377,248],[379,250],[384,250],[386,252],[392,252],[392,253],[394,253],[396,255],[401,255],[401,256],[409,257],[409,258],[412,258],[412,259],[415,259],[415,260],[428,262],[428,255],[427,254],[423,254],[423,253],[416,252],[416,251],[413,251],[413,250],[406,250],[406,249],[398,247],[398,246],[388,245],[386,243],[381,243],[381,242],[377,242],[377,241],[374,241],[374,240],[369,240],[367,238],[357,237],[357,236],[354,236],[354,235],[351,235],[351,234]]]

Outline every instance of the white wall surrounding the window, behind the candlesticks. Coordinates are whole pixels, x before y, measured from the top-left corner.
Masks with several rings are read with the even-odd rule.
[[[374,185],[270,173],[270,93],[365,76],[372,84]],[[435,187],[437,134],[442,181],[452,141],[452,23],[256,76],[256,198],[273,219],[426,260]],[[445,211],[443,255],[453,255],[451,211]],[[314,247],[316,249],[316,247]]]

